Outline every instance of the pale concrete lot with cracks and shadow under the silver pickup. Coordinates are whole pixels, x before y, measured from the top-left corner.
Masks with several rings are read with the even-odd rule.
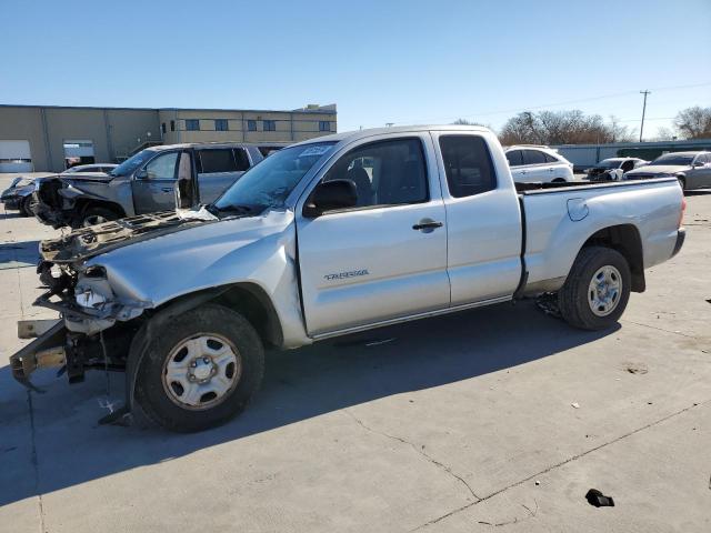
[[[0,531],[711,531],[711,192],[687,200],[618,329],[523,302],[272,353],[244,415],[194,435],[99,426],[120,374],[109,398],[102,373],[12,380],[57,232],[0,214]]]

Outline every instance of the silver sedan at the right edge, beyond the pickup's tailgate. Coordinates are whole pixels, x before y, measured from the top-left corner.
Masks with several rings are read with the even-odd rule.
[[[711,152],[665,153],[651,163],[624,174],[625,180],[669,177],[677,178],[684,191],[711,187]]]

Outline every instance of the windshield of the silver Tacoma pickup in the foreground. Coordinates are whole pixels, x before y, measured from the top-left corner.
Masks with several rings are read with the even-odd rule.
[[[282,208],[301,178],[336,142],[284,148],[249,169],[212,204],[212,211],[257,212]]]

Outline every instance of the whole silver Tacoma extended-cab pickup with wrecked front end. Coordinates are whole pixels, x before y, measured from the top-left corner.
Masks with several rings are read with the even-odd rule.
[[[622,314],[683,243],[675,178],[519,184],[484,128],[340,133],[270,155],[199,210],[41,243],[36,302],[58,321],[12,355],[124,370],[127,406],[176,431],[242,411],[264,346],[557,293],[573,326]],[[40,324],[20,324],[24,336]],[[28,333],[29,332],[29,333]]]

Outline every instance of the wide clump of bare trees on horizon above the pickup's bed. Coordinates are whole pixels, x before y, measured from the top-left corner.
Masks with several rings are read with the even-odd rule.
[[[628,128],[612,118],[605,124],[599,114],[584,114],[580,110],[524,111],[512,117],[501,129],[503,144],[583,144],[628,140]]]

